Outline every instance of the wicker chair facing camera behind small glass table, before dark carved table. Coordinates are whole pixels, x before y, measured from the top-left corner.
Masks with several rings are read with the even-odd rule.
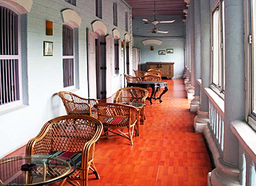
[[[126,87],[121,88],[115,93],[114,103],[142,103],[145,104],[145,100],[148,97],[148,91],[144,88],[140,87]],[[136,126],[136,135],[139,136],[140,133],[140,126],[144,125],[145,120],[145,109],[142,107],[140,109],[140,122],[138,122],[138,125]]]

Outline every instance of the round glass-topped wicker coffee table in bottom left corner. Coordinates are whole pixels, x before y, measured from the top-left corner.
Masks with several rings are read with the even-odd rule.
[[[14,156],[0,159],[0,186],[43,186],[57,181],[63,185],[76,165],[53,155]]]

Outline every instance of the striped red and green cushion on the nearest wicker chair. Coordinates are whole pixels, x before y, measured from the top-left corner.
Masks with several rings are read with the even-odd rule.
[[[68,151],[54,151],[49,153],[49,155],[54,155],[56,158],[68,158],[74,161],[77,167],[81,167],[81,159],[82,153],[81,152],[68,152]],[[52,160],[51,160],[52,161]],[[49,162],[54,163],[54,162]]]

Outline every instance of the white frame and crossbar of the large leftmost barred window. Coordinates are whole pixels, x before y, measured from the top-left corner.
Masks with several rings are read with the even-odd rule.
[[[21,57],[21,17],[20,17],[20,13],[16,10],[16,8],[6,4],[5,2],[0,2],[0,7],[5,7],[7,9],[9,9],[10,11],[12,11],[13,13],[17,14],[18,18],[18,24],[17,24],[17,29],[18,29],[18,38],[17,38],[17,42],[18,42],[18,55],[0,55],[0,60],[18,60],[18,77],[19,77],[19,100],[15,100],[3,105],[0,105],[0,111],[4,111],[10,108],[14,108],[16,106],[20,106],[23,104],[23,89],[22,89],[22,57]],[[15,58],[11,58],[11,57],[15,57]],[[17,57],[16,57],[17,56]]]

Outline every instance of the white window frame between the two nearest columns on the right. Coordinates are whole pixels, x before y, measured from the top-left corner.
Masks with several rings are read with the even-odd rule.
[[[217,0],[216,4],[211,9],[211,75],[210,75],[210,88],[216,92],[222,99],[224,99],[224,93],[225,93],[225,27],[224,27],[224,7],[223,7],[224,0]],[[213,82],[214,78],[214,48],[213,48],[213,42],[214,42],[214,35],[213,35],[213,15],[218,10],[218,76],[219,76],[219,85],[216,85],[216,83]]]

